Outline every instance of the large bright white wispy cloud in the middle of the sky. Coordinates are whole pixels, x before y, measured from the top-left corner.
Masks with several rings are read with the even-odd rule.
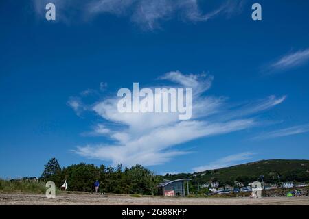
[[[217,120],[214,115],[223,117],[225,113],[222,109],[228,108],[229,104],[225,98],[205,95],[211,88],[214,77],[205,74],[185,75],[173,71],[159,79],[168,80],[166,87],[174,83],[176,88],[192,88],[192,120],[179,120],[177,113],[120,113],[117,110],[119,98],[116,96],[106,98],[91,107],[95,114],[106,121],[106,124],[100,122],[100,125],[94,127],[93,133],[108,135],[113,144],[78,146],[74,152],[113,164],[122,163],[124,166],[164,164],[177,155],[191,153],[177,149],[177,145],[197,138],[241,131],[260,125],[260,121],[248,115],[267,110],[284,101],[282,98],[271,96],[264,101],[247,105],[244,108],[246,118],[240,113],[233,118]],[[250,112],[247,110],[249,107],[253,109]]]

